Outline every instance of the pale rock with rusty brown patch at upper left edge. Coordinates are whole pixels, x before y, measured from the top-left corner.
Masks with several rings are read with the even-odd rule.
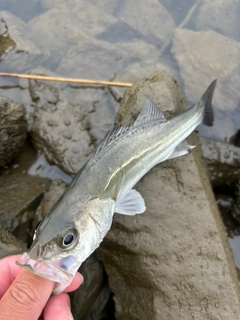
[[[0,11],[0,18],[1,70],[24,72],[47,58],[47,51],[42,54],[29,37],[29,29],[22,20],[7,11]]]

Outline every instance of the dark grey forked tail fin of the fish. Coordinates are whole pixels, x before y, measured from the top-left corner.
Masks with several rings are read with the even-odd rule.
[[[204,108],[203,111],[203,121],[202,124],[205,124],[206,126],[211,127],[213,125],[213,108],[212,108],[212,97],[213,92],[216,87],[217,79],[215,79],[210,86],[207,88],[207,90],[202,95],[202,98],[199,101],[199,105],[201,105]]]

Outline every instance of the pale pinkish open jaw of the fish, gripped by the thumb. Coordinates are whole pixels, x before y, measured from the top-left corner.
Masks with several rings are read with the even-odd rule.
[[[23,253],[16,264],[42,278],[56,282],[53,290],[54,295],[61,293],[70,285],[79,268],[79,263],[73,256],[57,261],[34,260],[29,257],[27,252]]]

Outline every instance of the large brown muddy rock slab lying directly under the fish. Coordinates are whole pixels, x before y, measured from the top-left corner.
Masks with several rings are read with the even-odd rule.
[[[170,80],[161,73],[158,79],[154,75],[146,81],[148,91],[142,81],[126,91],[121,123],[136,118],[142,104],[137,109],[133,101],[143,99],[143,90],[171,113],[181,111],[185,103],[178,88],[179,109],[169,103],[175,98],[166,95],[173,92],[174,81],[172,91],[161,96],[155,88],[169,87]],[[223,247],[226,235],[199,149],[156,166],[136,189],[145,199],[146,212],[114,215],[98,249],[114,293],[116,318],[238,319],[236,270],[229,248]]]

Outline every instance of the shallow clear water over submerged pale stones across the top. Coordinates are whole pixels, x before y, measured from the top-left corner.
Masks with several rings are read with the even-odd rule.
[[[158,3],[149,1],[146,5],[140,1],[136,7],[134,1],[1,0],[0,9],[13,17],[0,14],[0,69],[25,73],[44,67],[45,74],[54,72],[63,77],[136,81],[165,68],[179,81],[189,103],[195,102],[217,77],[219,90],[223,93],[226,90],[226,101],[221,102],[223,93],[216,92],[215,127],[213,130],[200,128],[200,134],[228,141],[239,129],[240,121],[239,94],[234,96],[224,85],[230,83],[231,90],[238,91],[240,82],[239,70],[233,74],[239,66],[238,1],[221,6],[218,1],[209,4],[204,0],[181,3],[159,0]],[[224,17],[231,21],[222,24]],[[21,30],[16,32],[19,25]],[[194,37],[189,39],[185,33],[176,36],[180,29],[192,30]],[[200,35],[212,31],[216,32],[214,45],[211,39],[204,41]],[[193,44],[198,38],[201,50],[209,56],[201,57],[199,52],[199,58],[200,48]],[[230,53],[229,46],[232,46]],[[27,82],[25,88],[22,83],[0,78],[0,94],[27,103],[27,98],[23,98]],[[75,87],[74,90],[84,89]],[[117,92],[121,97],[123,90]]]

